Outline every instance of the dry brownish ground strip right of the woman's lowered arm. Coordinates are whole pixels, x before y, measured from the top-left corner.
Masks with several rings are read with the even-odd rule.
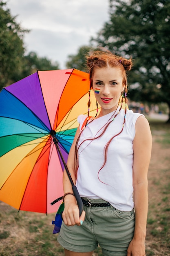
[[[160,143],[163,133],[153,131],[152,134],[152,157],[148,172],[147,256],[170,256],[170,144]]]

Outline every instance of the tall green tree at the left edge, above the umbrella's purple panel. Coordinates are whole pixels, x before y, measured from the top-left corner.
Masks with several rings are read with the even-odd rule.
[[[28,30],[22,29],[15,18],[6,9],[6,2],[0,0],[0,90],[14,81],[16,73],[22,72],[22,38]]]

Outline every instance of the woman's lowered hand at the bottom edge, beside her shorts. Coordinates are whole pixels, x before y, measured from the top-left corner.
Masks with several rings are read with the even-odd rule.
[[[146,256],[145,242],[133,238],[129,244],[127,256]]]

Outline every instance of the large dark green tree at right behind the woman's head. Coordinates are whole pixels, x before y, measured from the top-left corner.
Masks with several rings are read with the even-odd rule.
[[[92,41],[135,60],[130,99],[170,109],[170,0],[110,0],[109,13]]]

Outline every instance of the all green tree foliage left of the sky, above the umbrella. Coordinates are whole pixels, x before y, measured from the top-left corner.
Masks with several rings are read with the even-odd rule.
[[[46,57],[39,57],[35,52],[25,54],[22,29],[12,17],[6,3],[0,0],[0,90],[36,70],[59,69],[57,62],[52,63]]]

